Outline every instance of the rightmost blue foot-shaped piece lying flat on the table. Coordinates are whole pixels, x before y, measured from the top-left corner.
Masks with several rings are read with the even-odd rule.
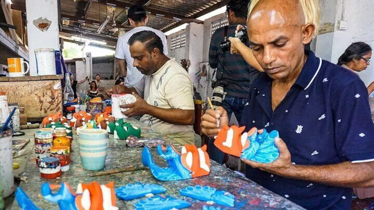
[[[235,197],[226,191],[217,191],[210,186],[187,186],[181,189],[180,194],[200,201],[213,201],[222,206],[234,207]]]

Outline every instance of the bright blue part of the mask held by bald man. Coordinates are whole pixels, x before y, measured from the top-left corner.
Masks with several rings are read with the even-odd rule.
[[[279,157],[279,149],[274,143],[274,139],[279,137],[279,133],[273,130],[267,133],[266,129],[259,134],[256,132],[248,136],[251,142],[249,148],[242,151],[241,158],[256,161],[259,163],[271,163]]]

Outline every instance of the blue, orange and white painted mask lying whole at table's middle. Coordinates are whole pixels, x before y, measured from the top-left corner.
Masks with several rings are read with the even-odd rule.
[[[181,153],[173,146],[159,145],[158,154],[168,162],[169,167],[162,168],[154,163],[147,147],[142,152],[142,163],[151,169],[153,176],[161,181],[190,179],[209,175],[210,161],[206,145],[197,148],[195,145],[185,145]]]

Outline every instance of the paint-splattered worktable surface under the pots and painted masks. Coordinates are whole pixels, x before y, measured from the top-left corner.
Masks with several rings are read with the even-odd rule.
[[[126,120],[129,123],[139,126],[142,129],[142,137],[147,138],[164,138],[166,142],[170,142],[167,136],[162,136],[159,132],[156,132],[149,127],[144,126],[135,119]],[[36,131],[37,129],[34,129]],[[33,131],[33,132],[34,132]],[[49,183],[60,184],[61,182],[70,183],[75,189],[78,183],[89,183],[97,181],[101,184],[108,183],[114,180],[116,187],[125,185],[127,183],[141,182],[141,183],[158,183],[166,188],[166,194],[174,197],[183,198],[184,200],[192,203],[192,206],[188,209],[201,210],[205,202],[197,201],[191,198],[182,197],[179,194],[181,188],[185,188],[188,185],[209,185],[220,190],[228,191],[235,196],[235,207],[232,209],[252,209],[252,210],[266,210],[266,209],[284,209],[284,210],[301,210],[300,206],[286,200],[285,198],[274,194],[273,192],[257,185],[245,177],[237,175],[232,170],[227,169],[214,161],[211,161],[211,173],[209,176],[198,177],[195,179],[182,180],[182,181],[171,181],[171,182],[160,182],[152,176],[150,170],[139,170],[134,172],[123,172],[113,175],[105,176],[88,176],[90,171],[84,170],[79,157],[79,148],[77,143],[77,136],[73,137],[73,145],[71,152],[71,168],[68,172],[62,173],[60,179],[47,180]],[[181,145],[175,145],[180,148]],[[129,165],[137,165],[141,163],[141,151],[142,148],[129,148],[125,146],[125,142],[122,140],[116,140],[113,135],[110,135],[109,148],[107,151],[107,159],[105,162],[105,170],[119,169]],[[163,161],[156,155],[156,149],[151,149],[154,161],[161,166],[166,166],[166,161]],[[36,167],[35,155],[30,155],[29,161],[25,172],[28,176],[28,183],[21,183],[21,187],[31,200],[42,210],[59,209],[56,204],[48,203],[43,200],[40,192],[40,186],[46,180],[42,179],[39,174],[39,170]],[[134,209],[133,204],[137,203],[139,199],[132,201],[122,201],[117,198],[117,206],[121,209]],[[216,204],[215,204],[216,206]],[[222,210],[230,209],[229,207],[220,206]],[[19,210],[18,204],[14,201],[11,210]]]

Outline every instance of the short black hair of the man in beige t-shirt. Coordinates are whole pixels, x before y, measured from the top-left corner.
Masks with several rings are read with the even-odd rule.
[[[163,54],[163,44],[161,38],[153,31],[139,31],[133,34],[128,41],[129,45],[135,43],[135,41],[140,41],[144,44],[145,49],[151,52],[154,48],[158,48],[160,53]]]

